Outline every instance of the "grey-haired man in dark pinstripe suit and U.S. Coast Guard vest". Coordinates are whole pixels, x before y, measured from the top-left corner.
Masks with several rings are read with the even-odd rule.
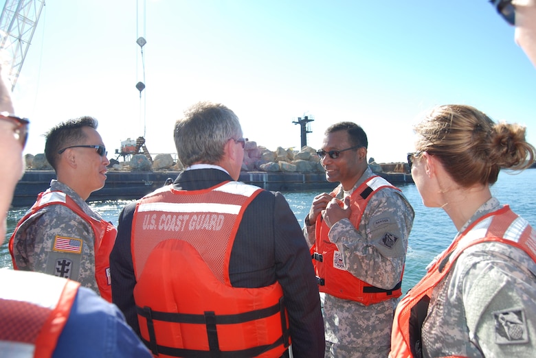
[[[309,249],[281,193],[236,181],[242,136],[229,108],[192,106],[175,124],[185,171],[120,215],[113,302],[153,354],[324,356]]]

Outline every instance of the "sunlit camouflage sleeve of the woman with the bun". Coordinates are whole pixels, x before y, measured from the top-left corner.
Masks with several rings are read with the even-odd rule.
[[[536,263],[512,246],[488,245],[496,250],[469,254],[462,272],[469,337],[486,357],[534,357]]]

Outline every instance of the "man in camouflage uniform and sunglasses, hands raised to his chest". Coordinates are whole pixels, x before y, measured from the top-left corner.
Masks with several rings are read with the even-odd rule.
[[[359,224],[351,222],[352,210],[357,208],[350,208],[350,197],[357,189],[356,193],[361,194],[364,185],[375,176],[368,167],[367,146],[364,130],[355,123],[337,123],[326,130],[322,150],[317,153],[327,180],[340,184],[333,193],[315,197],[305,219],[304,234],[309,246],[317,246],[322,241],[317,226],[324,222],[324,235],[336,245],[339,256],[338,261],[334,256],[332,262],[324,260],[323,264],[337,265],[337,270],[348,272],[372,289],[390,292],[401,281],[414,211],[401,191],[383,180],[383,186],[371,191],[366,206],[357,213],[362,214]],[[328,278],[326,285],[327,281]],[[325,291],[319,282],[320,291]],[[325,294],[326,357],[387,357],[397,304],[397,298],[391,297],[364,305],[358,300]]]

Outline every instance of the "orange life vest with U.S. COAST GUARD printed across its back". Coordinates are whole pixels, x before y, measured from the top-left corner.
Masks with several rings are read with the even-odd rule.
[[[224,182],[142,198],[131,235],[140,333],[159,357],[280,357],[289,320],[279,283],[232,287],[243,213],[262,189]]]

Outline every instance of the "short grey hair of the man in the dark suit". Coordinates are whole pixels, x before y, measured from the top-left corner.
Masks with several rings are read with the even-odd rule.
[[[199,102],[175,123],[175,146],[185,167],[218,163],[223,158],[225,143],[241,136],[238,117],[223,104]]]

